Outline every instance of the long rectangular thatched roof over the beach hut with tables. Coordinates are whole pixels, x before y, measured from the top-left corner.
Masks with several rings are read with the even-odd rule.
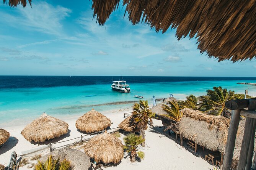
[[[180,122],[176,124],[174,130],[178,128],[178,133],[182,134],[184,138],[194,141],[211,151],[225,153],[230,119],[220,115],[204,114],[200,111],[194,111],[188,108],[181,109],[181,112],[183,112],[183,117]],[[162,117],[162,119],[164,119],[164,117]],[[169,125],[173,125],[173,121],[167,119],[165,121],[170,121]],[[236,135],[233,155],[234,160],[239,159],[244,128],[245,121],[240,120],[238,133]]]

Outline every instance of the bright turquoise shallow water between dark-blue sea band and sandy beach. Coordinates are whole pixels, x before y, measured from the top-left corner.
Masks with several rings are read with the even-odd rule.
[[[238,85],[237,82],[256,83],[256,80],[228,81],[186,81],[158,83],[130,83],[131,93],[119,93],[111,90],[111,84],[85,86],[34,87],[34,88],[3,88],[0,89],[0,124],[26,124],[39,117],[42,112],[56,117],[82,115],[94,108],[98,111],[126,109],[139,101],[134,95],[144,96],[152,105],[152,95],[156,98],[167,98],[172,93],[177,99],[187,95],[205,95],[205,90],[214,86],[222,86],[236,93],[256,96],[255,85]],[[127,82],[129,83],[129,82]]]

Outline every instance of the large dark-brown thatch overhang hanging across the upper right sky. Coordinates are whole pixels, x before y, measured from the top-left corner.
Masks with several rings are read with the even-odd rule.
[[[103,25],[120,0],[92,2],[93,16]],[[170,27],[177,29],[178,40],[196,36],[200,52],[219,61],[255,58],[254,0],[123,0],[121,6],[134,25],[144,22],[163,33]]]

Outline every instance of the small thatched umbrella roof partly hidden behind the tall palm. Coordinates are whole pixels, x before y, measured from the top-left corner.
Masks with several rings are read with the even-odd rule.
[[[124,119],[118,127],[126,132],[139,132],[138,124],[134,121],[132,115]],[[147,130],[148,125],[145,127],[145,130]]]

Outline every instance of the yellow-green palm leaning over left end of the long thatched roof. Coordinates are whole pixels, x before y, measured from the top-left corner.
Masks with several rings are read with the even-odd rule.
[[[170,106],[170,107],[169,107]],[[177,101],[169,102],[169,106],[164,105],[162,108],[167,114],[161,114],[163,117],[170,118],[178,123],[183,116],[183,113],[180,112],[180,109],[183,109],[184,106],[179,105]]]

